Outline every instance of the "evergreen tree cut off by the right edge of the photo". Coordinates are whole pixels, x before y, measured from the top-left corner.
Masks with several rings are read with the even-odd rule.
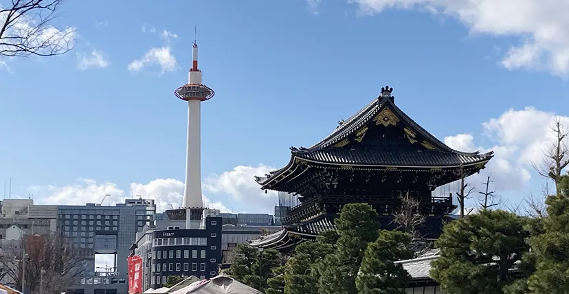
[[[544,233],[531,239],[535,273],[528,279],[528,293],[569,293],[569,176],[559,177],[556,185],[557,195],[546,199]]]

